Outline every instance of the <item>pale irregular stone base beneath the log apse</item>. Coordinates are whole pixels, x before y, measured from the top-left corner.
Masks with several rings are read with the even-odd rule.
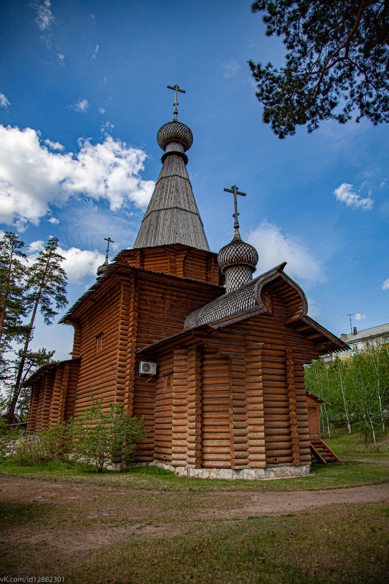
[[[178,477],[187,478],[222,478],[227,481],[263,481],[277,478],[306,477],[310,474],[311,465],[302,464],[299,467],[273,467],[273,468],[242,468],[233,470],[232,468],[191,468],[173,467],[171,464],[159,463],[138,463],[136,466],[156,466],[166,468],[174,472]]]

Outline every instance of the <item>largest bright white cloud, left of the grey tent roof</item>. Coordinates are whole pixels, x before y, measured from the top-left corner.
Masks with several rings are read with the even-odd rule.
[[[113,211],[131,203],[145,207],[155,185],[139,176],[145,158],[143,150],[110,135],[94,145],[79,140],[75,154],[51,152],[32,128],[0,124],[0,221],[15,221],[23,231],[73,194],[106,200]]]

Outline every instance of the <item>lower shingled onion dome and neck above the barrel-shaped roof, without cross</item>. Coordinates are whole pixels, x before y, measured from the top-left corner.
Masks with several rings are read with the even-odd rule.
[[[253,245],[246,244],[236,229],[232,241],[218,254],[218,264],[226,279],[226,294],[253,279],[258,259],[257,250]]]

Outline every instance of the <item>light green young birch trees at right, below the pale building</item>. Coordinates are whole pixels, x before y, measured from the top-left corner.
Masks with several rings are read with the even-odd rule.
[[[330,422],[345,421],[376,443],[377,430],[386,431],[389,409],[389,347],[370,347],[333,363],[312,361],[305,371],[306,389],[329,404],[321,404],[323,432]],[[324,423],[327,419],[327,424]]]

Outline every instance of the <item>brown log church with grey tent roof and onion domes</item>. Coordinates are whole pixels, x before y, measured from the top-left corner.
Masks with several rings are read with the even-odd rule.
[[[43,367],[31,386],[28,433],[66,422],[90,394],[145,416],[136,462],[203,478],[309,474],[304,364],[346,345],[307,316],[285,263],[255,276],[258,253],[234,234],[213,253],[185,168],[192,132],[160,128],[164,154],[132,249],[60,322],[72,325],[72,359]],[[180,91],[180,90],[179,90]],[[109,245],[109,242],[108,242]],[[311,404],[312,407],[312,404]]]

